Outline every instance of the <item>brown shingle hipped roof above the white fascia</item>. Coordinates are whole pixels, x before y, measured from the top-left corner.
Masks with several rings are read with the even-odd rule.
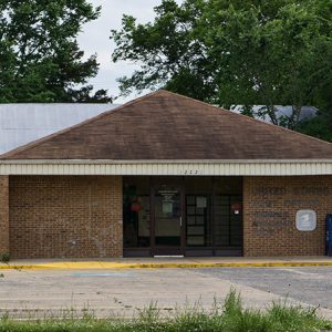
[[[332,144],[167,91],[30,143],[1,159],[324,159]]]

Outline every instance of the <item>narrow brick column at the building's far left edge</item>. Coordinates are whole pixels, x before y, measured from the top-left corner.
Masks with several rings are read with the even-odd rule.
[[[0,255],[9,252],[9,177],[0,176]]]

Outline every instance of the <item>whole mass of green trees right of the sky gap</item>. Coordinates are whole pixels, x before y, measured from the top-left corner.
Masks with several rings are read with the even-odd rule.
[[[303,105],[332,112],[329,0],[164,0],[155,12],[112,31],[113,61],[141,65],[120,79],[122,94],[163,86],[290,128]],[[291,116],[276,105],[292,105]]]

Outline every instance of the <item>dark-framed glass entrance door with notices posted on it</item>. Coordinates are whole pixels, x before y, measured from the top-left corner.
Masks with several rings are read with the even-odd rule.
[[[154,255],[183,253],[183,195],[176,185],[155,187]]]

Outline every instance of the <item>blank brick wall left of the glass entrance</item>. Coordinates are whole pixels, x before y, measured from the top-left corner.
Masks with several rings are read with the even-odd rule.
[[[13,258],[123,255],[121,177],[11,176],[9,206]]]

